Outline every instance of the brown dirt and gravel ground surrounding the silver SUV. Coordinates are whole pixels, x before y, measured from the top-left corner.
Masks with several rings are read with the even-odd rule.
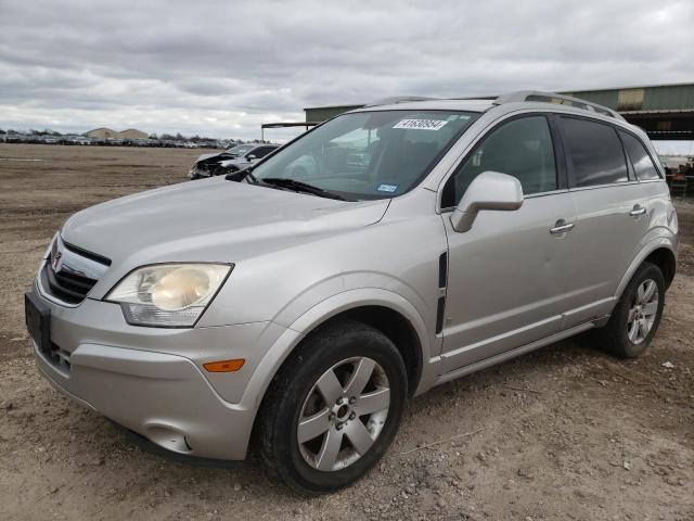
[[[203,152],[0,144],[1,520],[694,520],[691,202],[642,358],[574,340],[437,387],[410,402],[388,457],[331,496],[296,497],[253,457],[213,468],[143,450],[53,391],[23,323],[50,237],[85,206],[184,180]]]

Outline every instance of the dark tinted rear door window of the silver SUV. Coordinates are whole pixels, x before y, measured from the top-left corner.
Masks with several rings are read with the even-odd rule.
[[[609,125],[562,116],[562,127],[577,187],[608,185],[629,179],[625,152]]]

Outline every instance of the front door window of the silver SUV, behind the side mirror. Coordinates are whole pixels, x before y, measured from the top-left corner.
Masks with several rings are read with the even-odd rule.
[[[556,190],[554,147],[547,117],[512,119],[489,132],[446,183],[441,206],[455,206],[472,180],[486,170],[516,177],[526,195]]]

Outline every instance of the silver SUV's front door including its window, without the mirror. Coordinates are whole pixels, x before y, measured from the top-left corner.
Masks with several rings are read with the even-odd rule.
[[[529,114],[492,128],[447,181],[441,206],[458,204],[486,170],[516,177],[524,202],[513,212],[479,212],[462,233],[442,213],[449,243],[446,372],[558,332],[568,305],[571,233],[551,230],[575,224],[576,209],[549,117]]]

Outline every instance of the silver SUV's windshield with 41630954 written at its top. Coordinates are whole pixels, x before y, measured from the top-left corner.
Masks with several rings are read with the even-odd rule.
[[[417,185],[477,116],[460,111],[344,114],[284,147],[253,174],[294,179],[350,200],[400,195]]]

